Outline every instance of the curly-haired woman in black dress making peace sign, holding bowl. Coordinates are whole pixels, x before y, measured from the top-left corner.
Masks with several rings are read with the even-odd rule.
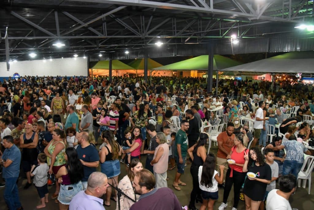
[[[272,170],[265,163],[265,158],[257,147],[251,148],[249,152],[245,151],[244,159],[243,172],[256,174],[255,178],[247,176],[244,182],[245,209],[258,210],[264,199],[266,187],[271,182]]]

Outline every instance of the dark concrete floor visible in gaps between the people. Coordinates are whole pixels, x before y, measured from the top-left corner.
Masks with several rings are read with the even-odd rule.
[[[217,147],[213,146],[211,148],[211,152],[213,152],[214,154],[217,153]],[[142,163],[143,165],[145,165],[145,159],[146,156],[142,157]],[[170,180],[168,180],[168,187],[170,189],[172,189],[176,196],[178,197],[179,201],[181,202],[182,206],[186,206],[189,204],[190,201],[190,193],[192,190],[192,176],[190,174],[190,164],[187,165],[186,169],[185,169],[185,174],[183,174],[181,176],[181,180],[183,182],[187,183],[187,186],[180,186],[181,191],[176,191],[173,187],[172,187],[172,182],[174,180],[174,176],[176,174],[176,168],[168,171],[168,177],[170,178]],[[100,171],[100,169],[98,169],[98,171]],[[126,175],[126,170],[125,170],[125,165],[121,164],[121,174],[119,176],[119,180],[122,179],[125,175]],[[21,176],[22,177],[22,176]],[[312,179],[314,180],[314,175],[312,173]],[[1,177],[2,180],[2,177]],[[37,205],[40,205],[40,199],[38,197],[36,188],[34,186],[31,186],[29,189],[24,190],[23,187],[26,184],[26,179],[24,178],[20,178],[19,179],[19,183],[18,183],[18,187],[19,187],[19,196],[20,196],[20,201],[24,207],[25,210],[33,210],[36,209]],[[301,183],[302,184],[302,183]],[[299,210],[305,210],[305,209],[314,209],[314,184],[312,183],[311,185],[311,195],[308,195],[308,185],[306,185],[306,188],[297,188],[297,192],[295,195],[292,195],[290,197],[290,204],[292,208],[297,208]],[[278,185],[277,185],[278,186]],[[302,185],[301,185],[302,186]],[[55,186],[49,186],[49,197],[52,195],[52,193],[54,192],[54,188]],[[0,188],[0,210],[2,209],[8,209],[4,200],[3,200],[3,191],[4,188]],[[105,198],[105,196],[103,196],[103,198]],[[223,199],[223,189],[219,188],[219,199],[217,202],[215,202],[214,204],[214,209],[218,209],[220,203],[222,202]],[[233,189],[231,189],[230,192],[230,196],[228,198],[228,205],[229,207],[226,209],[230,209],[232,208],[233,205]],[[197,208],[200,208],[201,204],[197,203],[195,205]],[[231,207],[230,207],[231,206]],[[51,210],[55,210],[58,209],[58,204],[54,203],[54,199],[49,199],[49,203],[47,203],[45,208],[42,209],[51,209]],[[110,207],[106,207],[106,210],[114,210],[116,209],[116,203],[111,201],[111,206]],[[244,201],[240,201],[239,202],[239,206],[238,206],[239,210],[244,210],[245,209],[245,204]]]

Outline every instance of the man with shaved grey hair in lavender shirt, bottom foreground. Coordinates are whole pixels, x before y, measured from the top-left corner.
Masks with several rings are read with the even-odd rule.
[[[70,202],[70,210],[105,210],[103,196],[108,187],[108,178],[101,172],[93,172],[87,181],[86,190],[76,194]]]

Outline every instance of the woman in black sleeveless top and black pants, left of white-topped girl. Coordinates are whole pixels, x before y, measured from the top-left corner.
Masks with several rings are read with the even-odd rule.
[[[190,196],[191,199],[189,203],[189,209],[191,210],[196,209],[195,201],[203,202],[202,196],[201,196],[201,190],[199,189],[199,184],[198,184],[198,168],[204,164],[205,159],[206,159],[205,144],[207,143],[207,140],[208,140],[208,135],[206,133],[201,133],[199,135],[198,142],[187,150],[187,153],[192,159],[190,172],[192,175],[193,189],[191,192],[191,196]]]

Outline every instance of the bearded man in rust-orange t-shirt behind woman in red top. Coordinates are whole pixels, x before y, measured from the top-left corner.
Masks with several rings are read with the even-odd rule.
[[[234,146],[234,141],[236,138],[236,135],[233,134],[233,131],[234,131],[234,124],[228,123],[226,131],[220,133],[217,136],[217,143],[218,143],[217,165],[218,167],[219,165],[225,166],[224,177],[226,177],[226,173],[227,173],[226,168],[229,168],[227,159],[230,158],[231,148]]]

